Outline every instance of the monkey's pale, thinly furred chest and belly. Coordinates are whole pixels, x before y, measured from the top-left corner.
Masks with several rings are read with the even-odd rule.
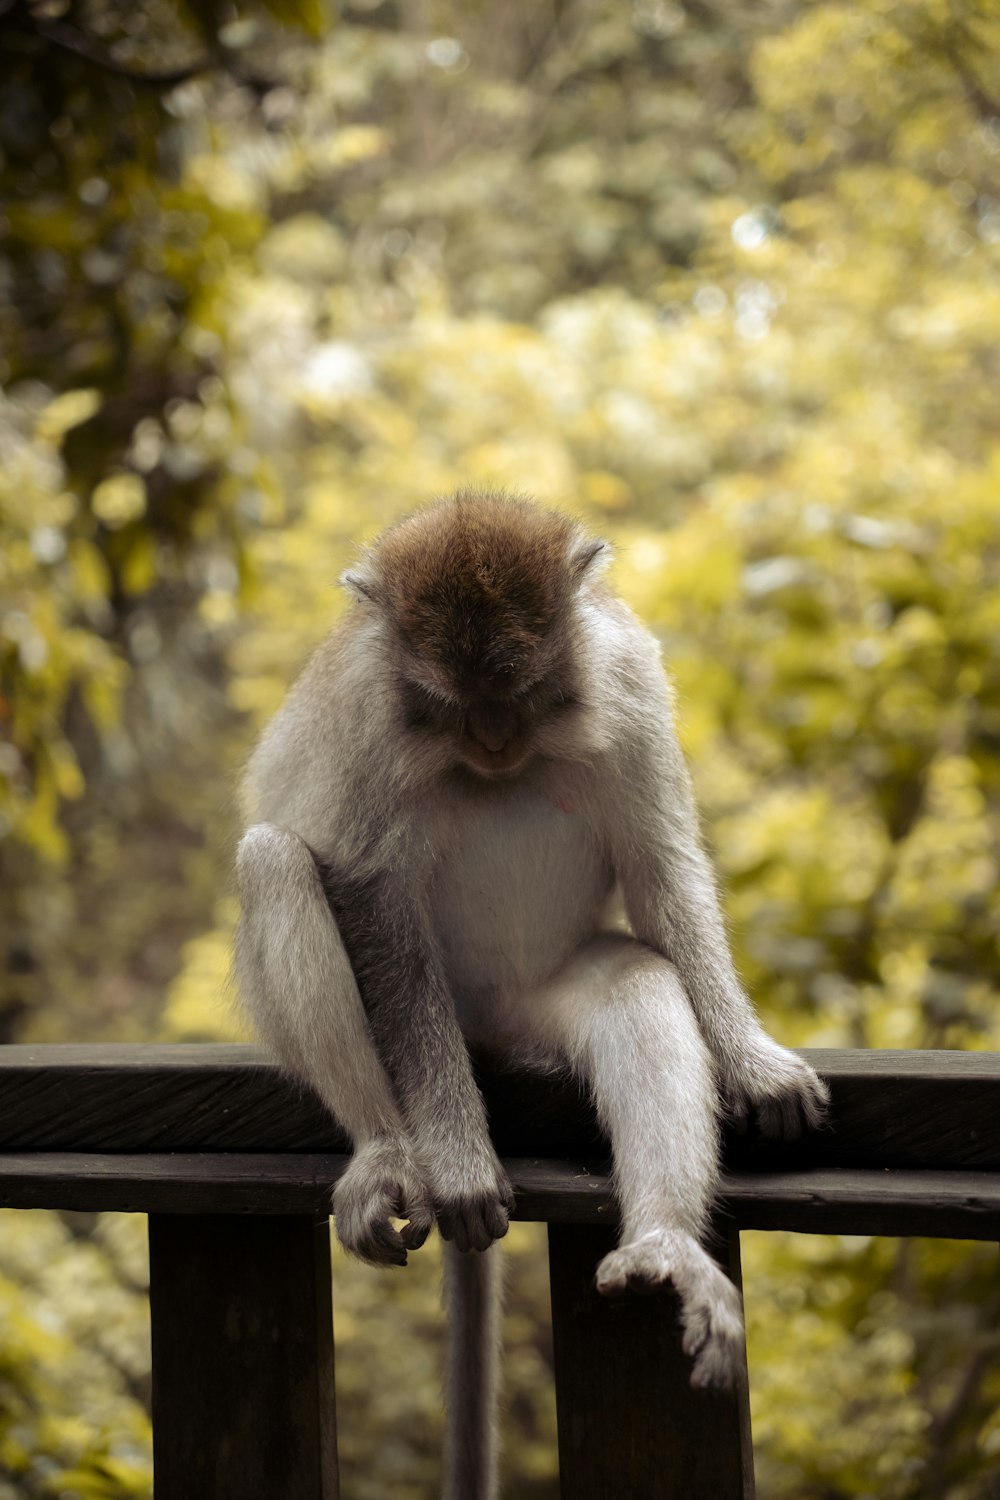
[[[610,885],[579,813],[540,794],[466,810],[430,892],[456,993],[547,980],[595,930]]]

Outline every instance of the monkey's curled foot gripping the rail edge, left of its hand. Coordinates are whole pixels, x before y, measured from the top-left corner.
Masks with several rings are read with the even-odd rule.
[[[357,1148],[333,1190],[333,1216],[345,1250],[372,1266],[405,1266],[420,1250],[433,1208],[424,1176],[405,1138],[376,1136]],[[409,1220],[402,1230],[393,1218]]]

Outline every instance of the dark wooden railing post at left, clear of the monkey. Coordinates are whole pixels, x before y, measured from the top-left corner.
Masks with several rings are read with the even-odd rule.
[[[336,1500],[330,1232],[150,1214],[156,1500]]]

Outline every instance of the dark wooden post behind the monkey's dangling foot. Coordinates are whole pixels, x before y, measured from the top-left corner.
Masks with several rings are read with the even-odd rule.
[[[732,1395],[693,1390],[676,1294],[594,1290],[613,1245],[604,1226],[549,1226],[562,1500],[753,1500],[745,1370]]]

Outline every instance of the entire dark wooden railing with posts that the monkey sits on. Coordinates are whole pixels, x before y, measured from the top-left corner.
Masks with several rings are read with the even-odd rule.
[[[828,1126],[727,1143],[735,1276],[741,1228],[1000,1239],[1000,1054],[808,1056]],[[670,1294],[592,1290],[615,1206],[585,1101],[481,1082],[517,1214],[549,1226],[565,1500],[753,1496],[745,1380],[693,1392]],[[0,1204],[150,1216],[156,1500],[337,1496],[327,1214],[345,1149],[252,1047],[0,1048]]]

